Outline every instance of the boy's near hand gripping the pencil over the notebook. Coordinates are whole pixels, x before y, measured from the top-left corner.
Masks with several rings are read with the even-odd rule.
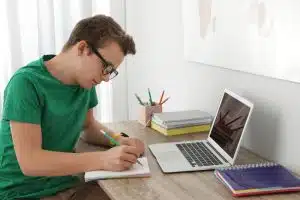
[[[136,163],[140,152],[133,146],[121,145],[100,153],[98,161],[102,170],[123,171]]]

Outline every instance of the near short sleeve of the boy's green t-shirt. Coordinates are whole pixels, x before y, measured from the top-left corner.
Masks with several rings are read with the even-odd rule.
[[[33,83],[23,74],[15,75],[5,89],[3,119],[40,124],[41,110]]]

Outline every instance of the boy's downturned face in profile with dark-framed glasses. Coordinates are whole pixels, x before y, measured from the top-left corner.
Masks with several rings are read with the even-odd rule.
[[[117,70],[124,59],[124,54],[116,42],[110,42],[102,49],[93,48],[85,41],[77,43],[76,46],[79,58],[76,81],[83,88],[92,88],[101,81],[108,82],[108,67]]]

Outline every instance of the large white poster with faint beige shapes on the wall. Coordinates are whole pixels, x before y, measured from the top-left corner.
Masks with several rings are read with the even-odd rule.
[[[200,1],[212,2],[216,18],[205,38]],[[300,82],[300,1],[183,0],[182,5],[187,60]]]

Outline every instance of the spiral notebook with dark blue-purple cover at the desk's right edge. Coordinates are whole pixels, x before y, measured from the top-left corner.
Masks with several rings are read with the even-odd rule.
[[[236,197],[300,191],[300,178],[276,163],[221,168],[215,175]]]

